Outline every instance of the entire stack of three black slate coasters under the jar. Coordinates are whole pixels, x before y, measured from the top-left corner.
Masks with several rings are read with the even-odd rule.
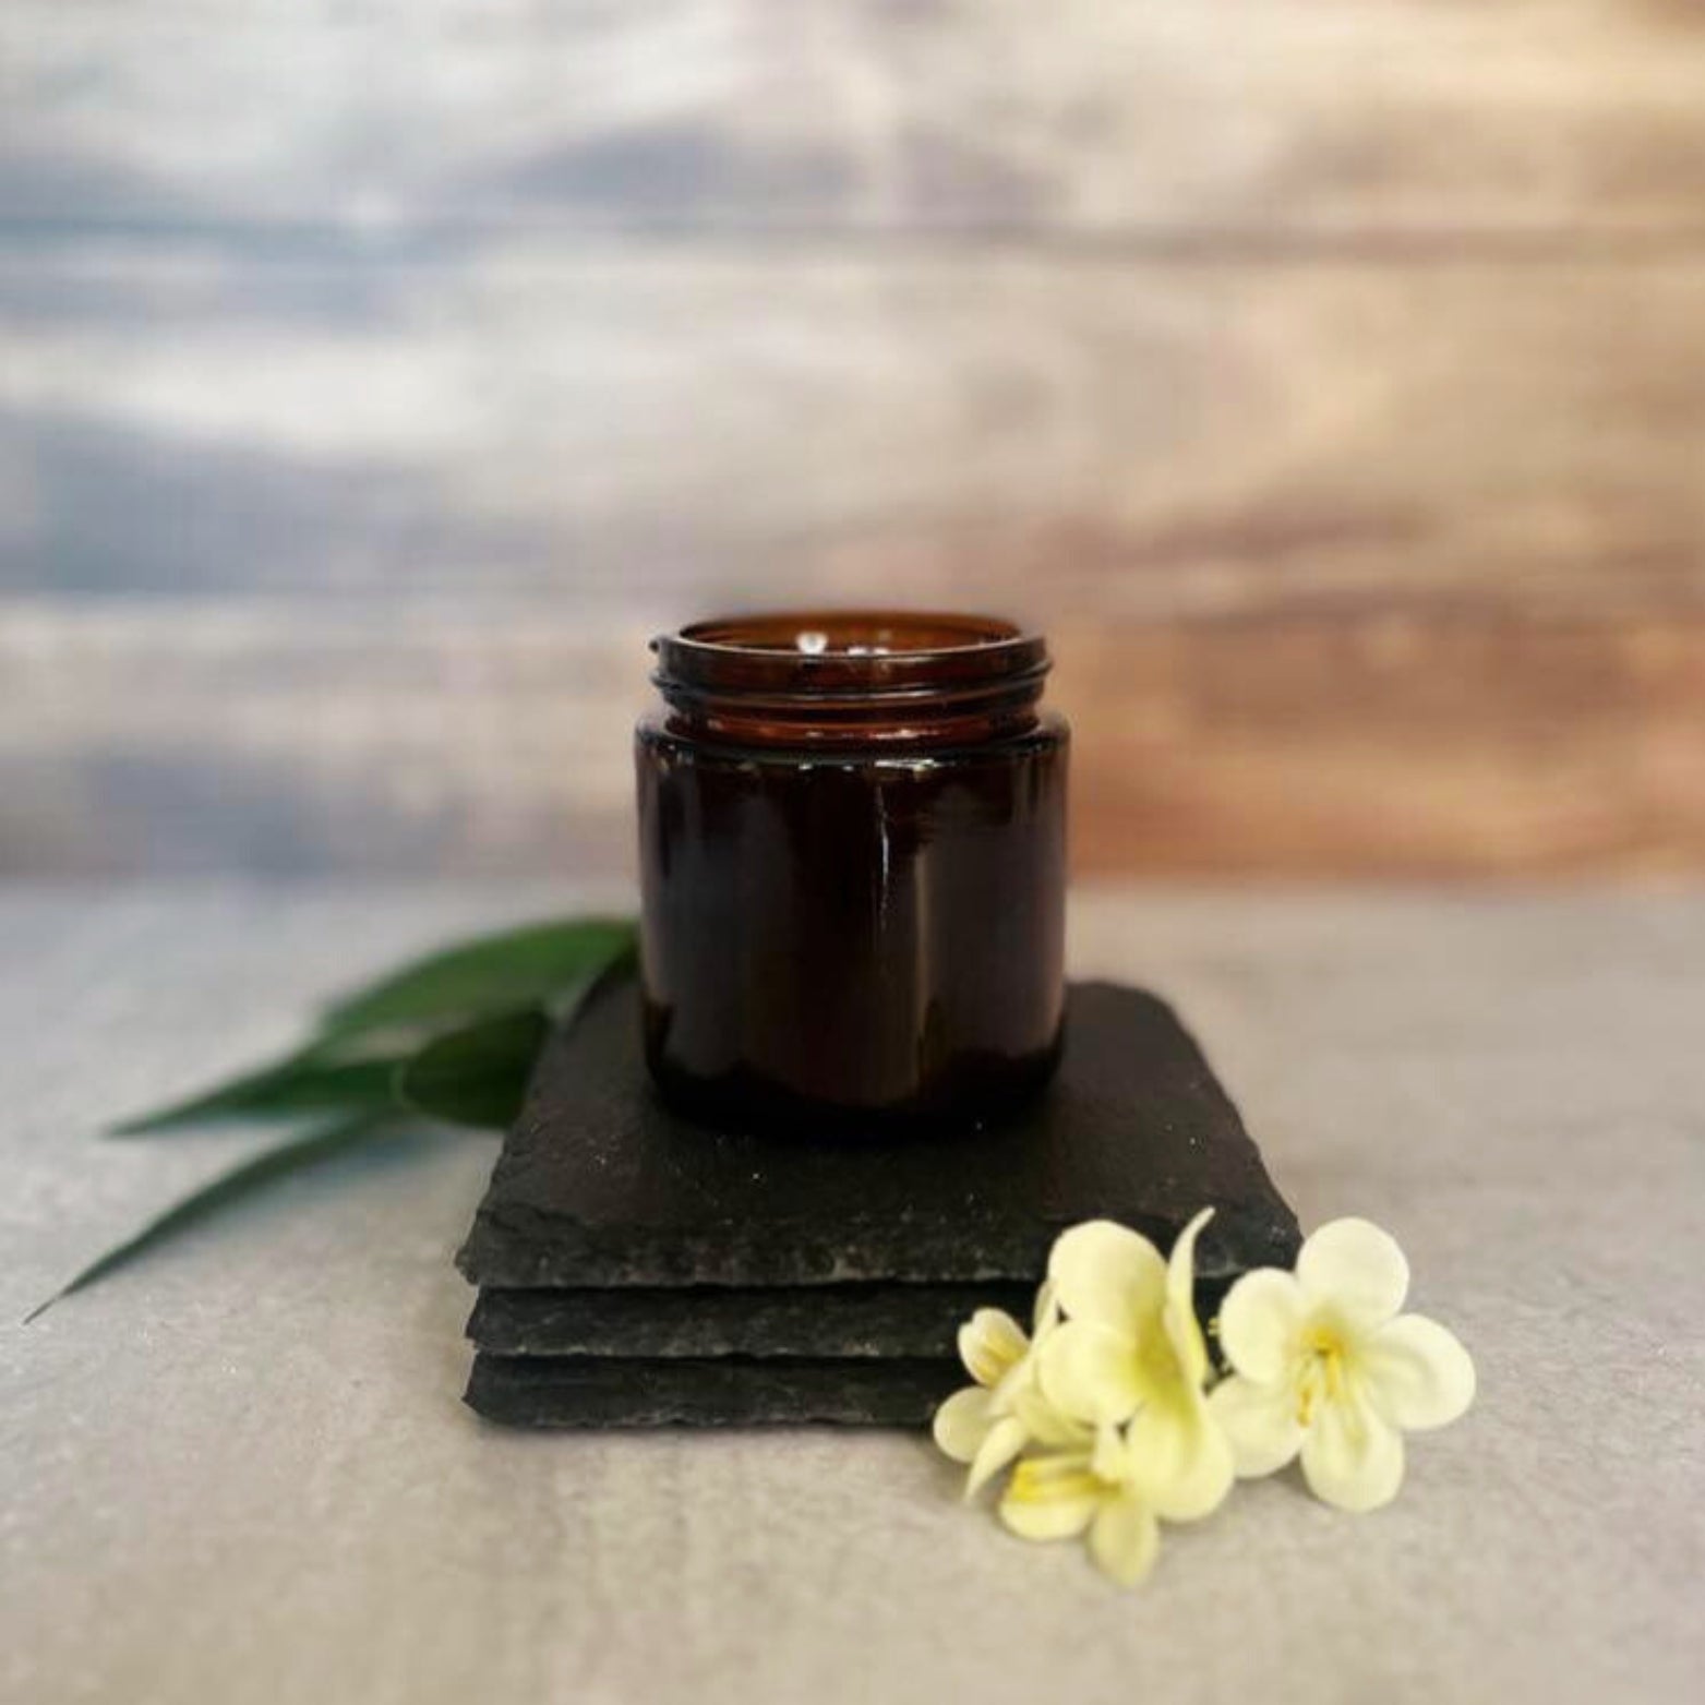
[[[1298,1226],[1139,989],[1074,985],[1061,1072],[1006,1122],[825,1137],[672,1112],[612,982],[547,1045],[459,1255],[481,1287],[467,1402],[540,1427],[922,1425],[965,1383],[958,1325],[1028,1321],[1061,1229],[1117,1219],[1165,1250],[1207,1205],[1204,1313],[1291,1265]]]

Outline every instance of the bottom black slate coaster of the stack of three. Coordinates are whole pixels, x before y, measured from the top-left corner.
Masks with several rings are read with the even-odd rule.
[[[965,1384],[939,1361],[476,1355],[467,1403],[515,1427],[922,1427]]]

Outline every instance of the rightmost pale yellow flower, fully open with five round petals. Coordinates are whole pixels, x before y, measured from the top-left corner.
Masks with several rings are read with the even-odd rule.
[[[1296,1275],[1245,1274],[1219,1311],[1231,1378],[1211,1408],[1238,1473],[1269,1475],[1301,1454],[1316,1497],[1378,1509],[1403,1482],[1403,1430],[1442,1427],[1468,1408],[1475,1364],[1422,1315],[1398,1315],[1408,1262],[1366,1219],[1321,1226]]]

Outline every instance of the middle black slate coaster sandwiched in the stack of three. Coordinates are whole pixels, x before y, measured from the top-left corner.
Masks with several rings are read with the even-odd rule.
[[[1030,1284],[837,1284],[737,1291],[483,1291],[467,1335],[496,1355],[957,1354],[960,1323],[1004,1308],[1030,1325]]]

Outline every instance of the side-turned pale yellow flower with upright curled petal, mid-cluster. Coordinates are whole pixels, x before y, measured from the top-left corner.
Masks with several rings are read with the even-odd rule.
[[[1066,1321],[1040,1350],[1042,1391],[1091,1427],[1125,1425],[1129,1475],[1166,1521],[1216,1509],[1233,1482],[1231,1448],[1209,1415],[1207,1347],[1195,1321],[1195,1240],[1204,1209],[1171,1260],[1107,1219],[1054,1245],[1049,1280]]]

